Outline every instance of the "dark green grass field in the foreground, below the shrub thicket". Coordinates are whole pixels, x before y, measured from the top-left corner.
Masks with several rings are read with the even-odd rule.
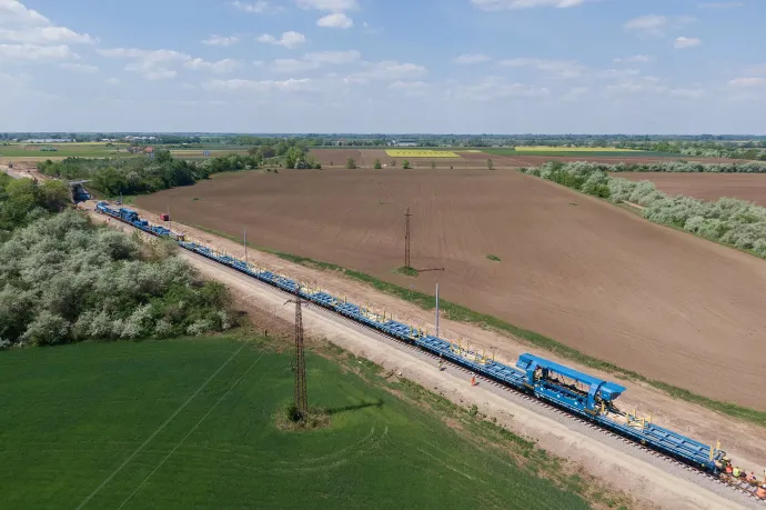
[[[274,346],[0,352],[2,506],[587,508],[577,493],[619,503],[475,410],[332,347],[308,356],[310,403],[331,409],[330,427],[281,430],[292,357]]]

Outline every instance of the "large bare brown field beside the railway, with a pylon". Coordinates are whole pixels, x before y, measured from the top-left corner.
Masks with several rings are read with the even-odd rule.
[[[199,200],[192,200],[192,198]],[[695,392],[766,409],[766,263],[514,171],[284,170],[138,204],[335,262]],[[403,259],[412,208],[419,278]],[[498,256],[493,262],[486,254]],[[332,289],[330,289],[332,290]]]

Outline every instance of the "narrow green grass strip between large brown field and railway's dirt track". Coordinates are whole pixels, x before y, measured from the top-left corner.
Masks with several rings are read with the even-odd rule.
[[[205,232],[212,233],[214,236],[220,236],[226,239],[230,239],[232,241],[241,242],[240,239],[235,238],[234,236],[226,234],[224,232],[220,232],[218,230],[209,229],[205,227],[201,226],[193,226],[200,230],[203,230]],[[250,246],[250,244],[249,244]],[[252,248],[255,248],[256,250],[260,251],[265,251],[268,253],[272,253],[281,259],[289,260],[294,263],[312,267],[312,268],[318,268],[318,269],[323,269],[323,270],[332,270],[332,271],[340,271],[343,272],[344,276],[352,278],[354,280],[361,281],[363,283],[370,284],[372,288],[380,292],[384,292],[389,296],[393,296],[396,298],[400,298],[402,300],[409,301],[411,303],[414,303],[419,306],[420,308],[424,310],[433,310],[436,307],[436,298],[431,294],[426,294],[424,292],[419,292],[415,290],[410,290],[404,287],[400,287],[395,283],[390,283],[387,281],[383,281],[379,278],[372,277],[370,274],[360,272],[360,271],[354,271],[352,269],[345,269],[342,268],[337,264],[334,263],[329,263],[329,262],[321,262],[314,259],[310,259],[306,257],[298,257],[294,254],[290,253],[284,253],[278,250],[272,250],[268,248],[261,248],[256,246],[252,246]],[[512,324],[510,322],[506,322],[502,319],[498,319],[493,316],[488,316],[486,313],[481,313],[474,310],[471,310],[467,307],[464,307],[462,304],[456,304],[451,301],[446,301],[444,299],[441,299],[439,302],[440,309],[442,310],[442,313],[444,317],[451,320],[460,321],[460,322],[467,322],[472,324],[477,324],[484,329],[492,329],[498,332],[503,332],[506,334],[511,334],[512,337],[515,337],[520,340],[525,341],[527,344],[532,347],[536,347],[538,349],[544,349],[548,352],[553,352],[556,356],[560,356],[562,358],[575,361],[579,364],[583,364],[588,368],[593,368],[596,370],[602,370],[608,373],[614,374],[617,378],[621,379],[627,379],[627,380],[633,380],[633,381],[639,381],[647,383],[654,388],[657,388],[665,393],[669,394],[671,397],[678,398],[681,400],[686,400],[687,402],[696,403],[698,406],[703,406],[707,409],[710,409],[713,411],[720,412],[723,414],[730,416],[733,418],[754,423],[760,427],[766,427],[766,412],[764,411],[758,411],[756,409],[747,408],[744,406],[738,406],[736,403],[730,403],[730,402],[724,402],[720,400],[715,400],[710,399],[708,397],[704,397],[702,394],[695,393],[693,391],[686,390],[684,388],[679,388],[673,384],[667,384],[662,381],[656,381],[653,379],[649,379],[647,377],[642,376],[641,373],[637,373],[633,370],[627,370],[622,367],[618,367],[609,361],[604,361],[602,359],[598,359],[596,357],[585,354],[577,349],[573,349],[568,346],[565,346],[564,343],[554,340],[552,338],[545,337],[544,334],[540,334],[535,331],[531,331],[528,329],[521,328],[518,326]]]

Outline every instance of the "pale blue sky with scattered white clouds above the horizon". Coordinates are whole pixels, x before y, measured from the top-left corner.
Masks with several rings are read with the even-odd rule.
[[[766,133],[766,0],[0,0],[0,131]]]

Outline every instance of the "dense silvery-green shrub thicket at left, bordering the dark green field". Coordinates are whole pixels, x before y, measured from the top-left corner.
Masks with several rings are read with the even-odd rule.
[[[73,210],[40,218],[0,241],[0,338],[43,346],[231,328],[226,288],[199,281],[174,252]]]

